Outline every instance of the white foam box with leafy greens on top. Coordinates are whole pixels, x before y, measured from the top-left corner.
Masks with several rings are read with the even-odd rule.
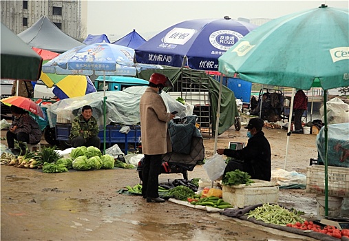
[[[245,206],[257,205],[259,203],[277,203],[279,187],[275,182],[266,182],[253,179],[251,185],[223,185],[223,200],[234,207],[244,208]]]

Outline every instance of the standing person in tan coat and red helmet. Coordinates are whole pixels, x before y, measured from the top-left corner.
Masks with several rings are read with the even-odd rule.
[[[145,155],[142,169],[142,196],[147,202],[165,202],[159,198],[158,185],[161,156],[172,151],[167,123],[174,115],[167,112],[160,96],[163,87],[173,87],[163,74],[151,74],[149,87],[140,98],[140,130],[142,153]]]

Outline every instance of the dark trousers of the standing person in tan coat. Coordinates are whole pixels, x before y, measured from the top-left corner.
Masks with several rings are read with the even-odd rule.
[[[160,155],[145,155],[142,169],[142,196],[147,198],[158,198],[159,174],[161,169]]]

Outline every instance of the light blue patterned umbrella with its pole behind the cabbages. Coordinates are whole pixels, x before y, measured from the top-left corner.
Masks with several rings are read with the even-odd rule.
[[[137,65],[134,63],[134,50],[111,43],[94,43],[81,45],[68,50],[43,65],[44,73],[54,74],[80,74],[80,75],[105,75],[136,76],[137,70],[142,67],[156,68],[155,65]],[[104,147],[106,138],[106,97],[104,90]]]

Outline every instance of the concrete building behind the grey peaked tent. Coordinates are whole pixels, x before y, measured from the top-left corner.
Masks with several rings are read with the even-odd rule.
[[[15,34],[30,28],[44,15],[65,34],[83,41],[87,36],[87,1],[1,0],[1,22]]]

